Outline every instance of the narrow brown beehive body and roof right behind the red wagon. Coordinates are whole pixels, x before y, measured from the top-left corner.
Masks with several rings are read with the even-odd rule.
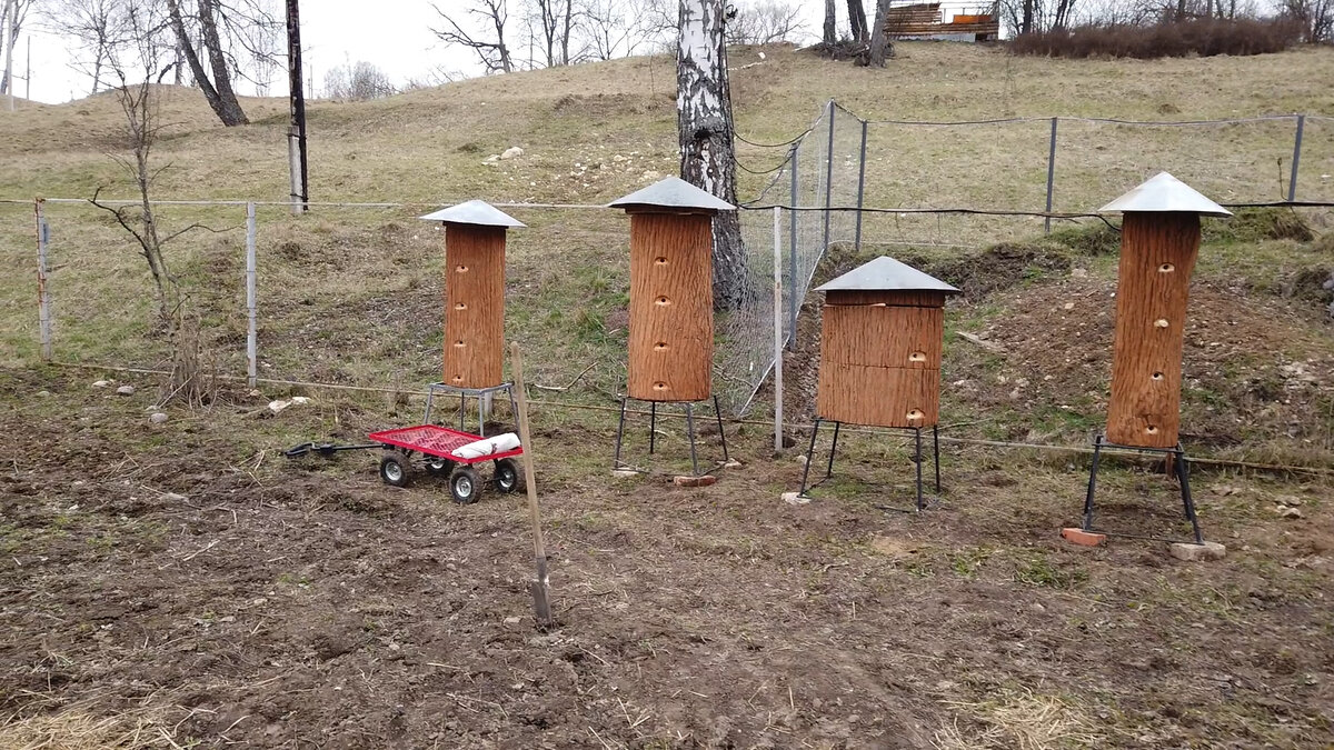
[[[456,388],[504,382],[504,240],[522,223],[482,200],[422,216],[444,224],[444,378]]]

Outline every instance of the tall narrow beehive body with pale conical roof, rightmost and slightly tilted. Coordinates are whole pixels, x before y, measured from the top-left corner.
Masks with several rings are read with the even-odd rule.
[[[1123,212],[1107,440],[1170,448],[1181,430],[1181,358],[1199,216],[1231,216],[1167,172],[1101,212]]]

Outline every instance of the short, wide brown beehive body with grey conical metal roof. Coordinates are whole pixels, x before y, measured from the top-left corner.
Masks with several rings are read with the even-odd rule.
[[[824,292],[820,419],[931,427],[940,419],[944,298],[959,290],[882,256]]]

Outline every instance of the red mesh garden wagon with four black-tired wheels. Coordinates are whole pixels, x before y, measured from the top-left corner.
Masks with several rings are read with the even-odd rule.
[[[519,464],[514,462],[514,456],[523,454],[523,447],[478,458],[459,458],[454,455],[455,448],[482,440],[482,435],[436,424],[382,430],[371,432],[367,439],[384,446],[380,479],[386,484],[406,487],[412,480],[411,456],[418,452],[422,454],[427,474],[450,478],[450,495],[458,503],[478,502],[483,482],[475,467],[488,460],[495,462],[491,482],[496,490],[508,494],[519,487]]]

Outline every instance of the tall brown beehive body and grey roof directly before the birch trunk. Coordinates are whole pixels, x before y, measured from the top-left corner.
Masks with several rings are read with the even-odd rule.
[[[736,207],[667,177],[612,202],[630,215],[626,391],[650,402],[712,394],[714,214]]]

